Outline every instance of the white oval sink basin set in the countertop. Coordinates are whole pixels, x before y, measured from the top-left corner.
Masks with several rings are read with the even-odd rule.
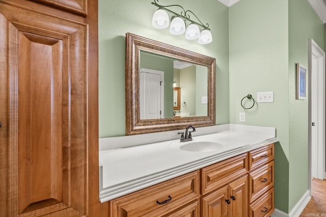
[[[211,141],[193,141],[187,144],[181,145],[180,149],[184,151],[196,151],[196,152],[206,152],[206,151],[218,151],[223,149],[223,145],[217,142]]]

